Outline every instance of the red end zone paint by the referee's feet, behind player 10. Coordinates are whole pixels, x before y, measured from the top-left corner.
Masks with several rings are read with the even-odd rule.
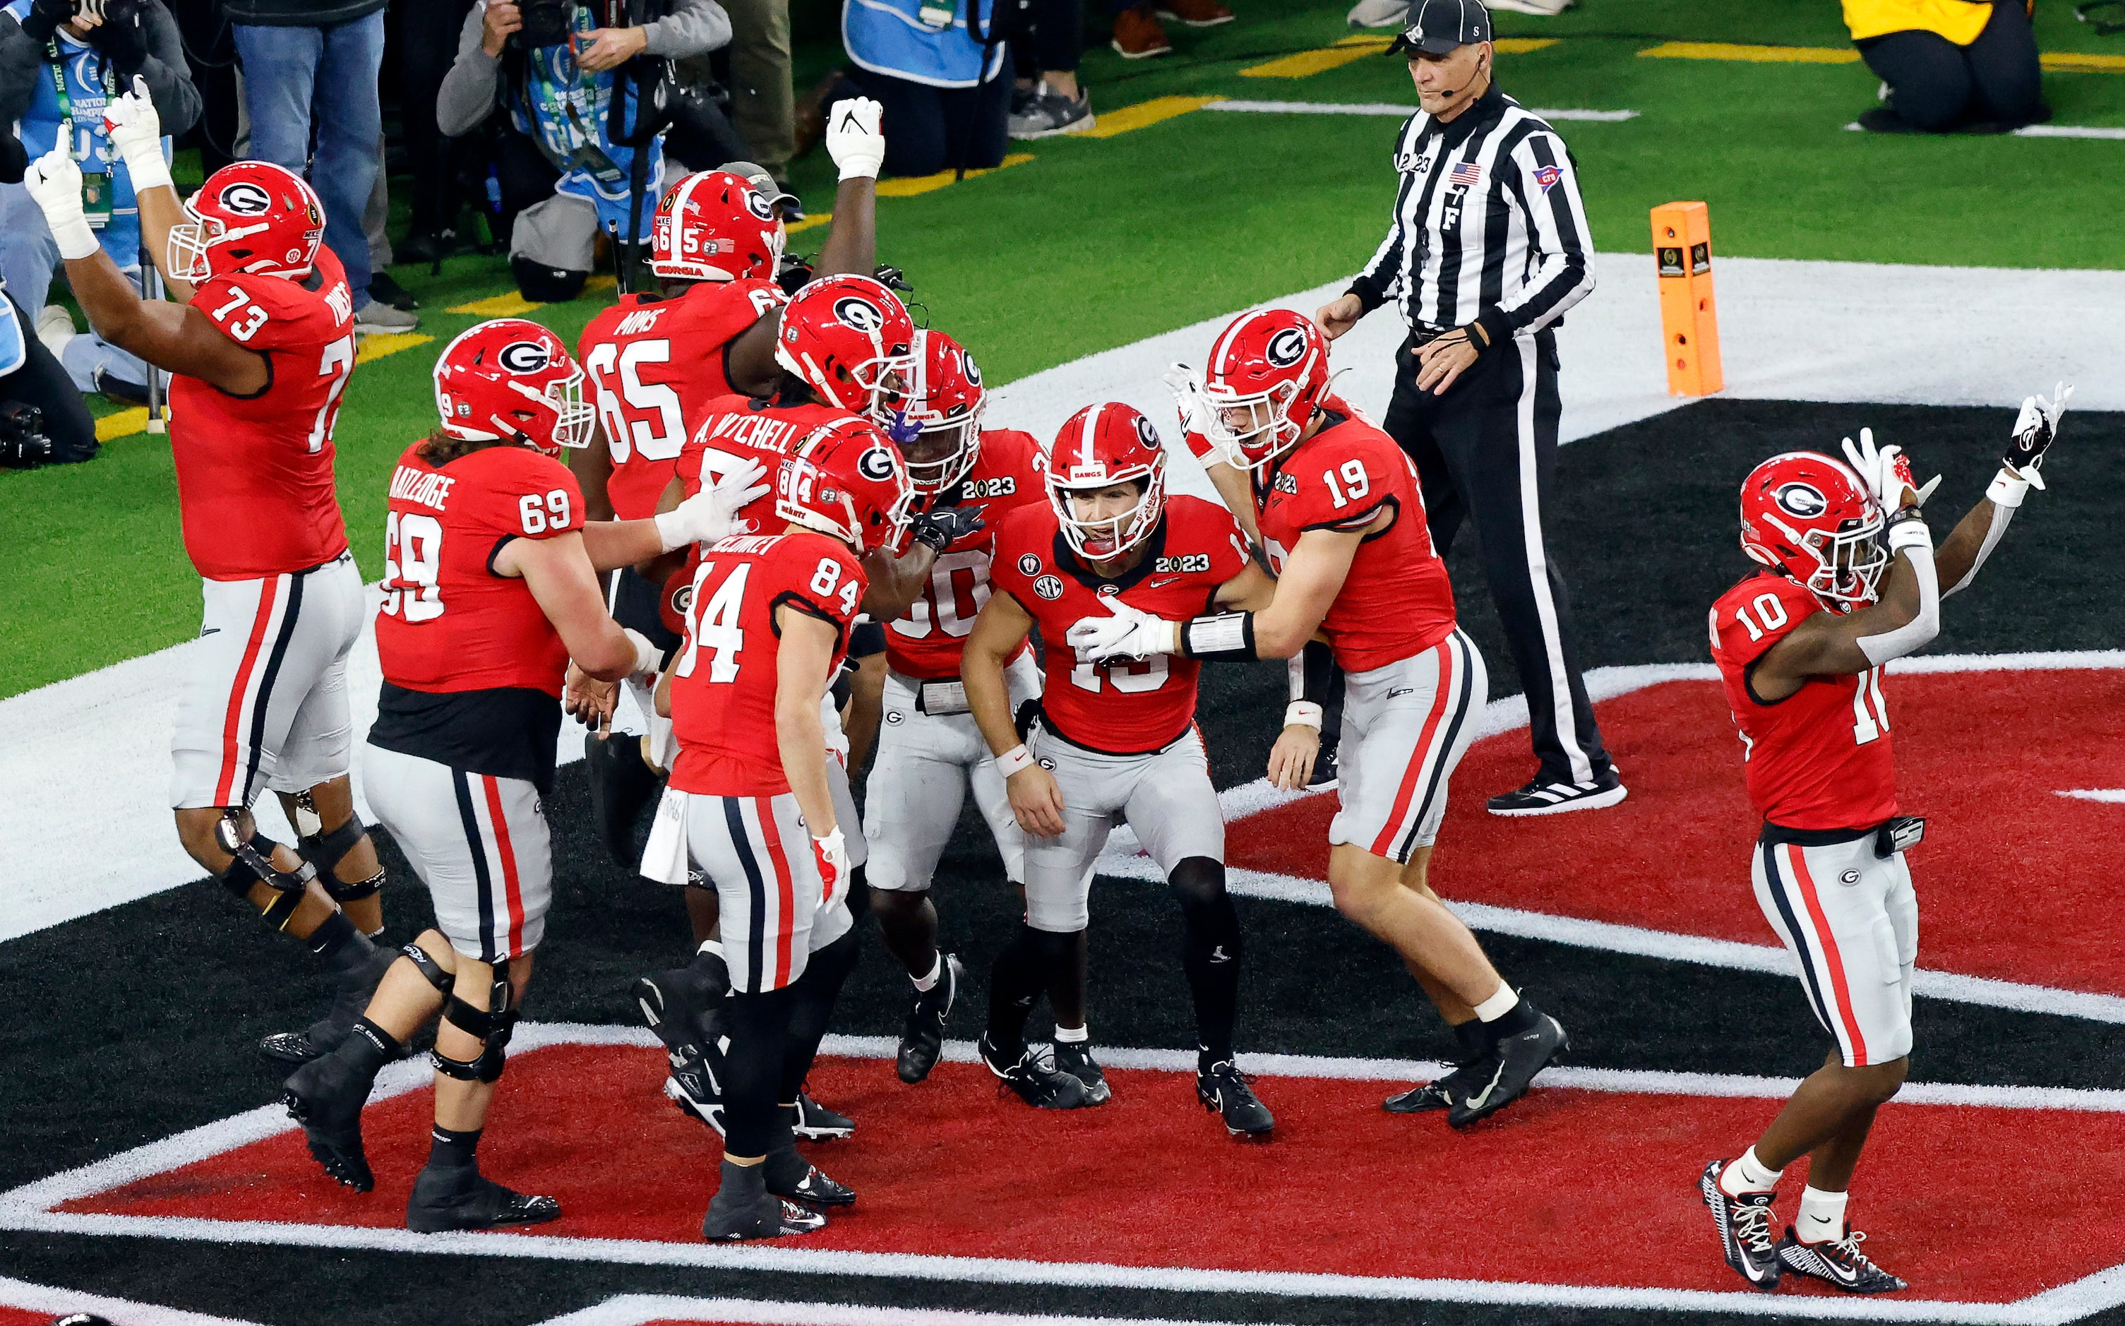
[[[2125,994],[2125,805],[2059,797],[2125,784],[2125,672],[1904,674],[1885,684],[1910,852],[1919,965]],[[1719,682],[1602,701],[1630,799],[1502,820],[1483,797],[1526,782],[1526,729],[1477,742],[1454,774],[1432,886],[1470,903],[1776,944],[1749,888],[1757,820]],[[1334,797],[1226,829],[1230,865],[1320,880]]]

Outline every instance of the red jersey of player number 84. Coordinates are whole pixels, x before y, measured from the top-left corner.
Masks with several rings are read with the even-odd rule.
[[[829,623],[839,667],[863,601],[863,565],[824,533],[742,533],[701,552],[691,589],[686,644],[672,665],[672,786],[714,797],[786,793],[776,737],[776,610]]]

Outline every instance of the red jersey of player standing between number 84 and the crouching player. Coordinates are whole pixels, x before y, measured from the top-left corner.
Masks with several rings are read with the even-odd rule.
[[[886,625],[886,665],[901,676],[946,680],[958,676],[958,659],[973,633],[973,618],[990,593],[990,561],[997,529],[1022,506],[1048,502],[1048,457],[1033,434],[990,429],[982,453],[937,506],[971,506],[986,525],[954,540],[937,555],[931,578],[907,612]]]

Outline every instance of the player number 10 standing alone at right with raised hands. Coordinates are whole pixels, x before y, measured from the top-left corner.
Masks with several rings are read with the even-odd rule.
[[[1736,1160],[1698,1192],[1726,1260],[1751,1288],[1787,1271],[1849,1294],[1906,1288],[1844,1222],[1874,1111],[1904,1084],[1919,897],[1904,848],[1925,820],[1902,814],[1883,665],[1940,629],[1940,599],[1970,584],[2032,487],[2072,389],[2029,397],[1985,497],[1934,550],[1896,446],[1847,438],[1840,463],[1791,450],[1740,487],[1740,546],[1766,570],[1719,595],[1713,661],[1740,729],[1749,803],[1764,818],[1751,861],[1764,920],[1791,950],[1808,1007],[1836,1046]],[[1940,482],[1940,480],[1934,480]],[[1944,586],[1944,589],[1942,589]],[[1800,1211],[1779,1239],[1781,1171],[1808,1156]]]

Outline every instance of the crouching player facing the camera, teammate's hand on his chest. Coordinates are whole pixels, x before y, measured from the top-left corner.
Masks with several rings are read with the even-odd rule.
[[[1184,969],[1196,1016],[1196,1099],[1232,1135],[1275,1126],[1232,1062],[1241,933],[1224,890],[1224,812],[1194,727],[1192,659],[1096,663],[1073,650],[1071,623],[1130,612],[1198,612],[1266,591],[1247,538],[1216,502],[1167,497],[1167,453],[1122,404],[1088,406],[1048,455],[1048,504],[1020,506],[997,531],[990,580],[960,661],[973,720],[994,754],[1026,835],[1026,918],[990,973],[982,1060],[1028,1105],[1073,1109],[1109,1096],[1084,1020],[1092,863],[1126,816],[1167,871],[1186,922]],[[1020,740],[1005,674],[1039,625],[1048,693]],[[1054,1069],[1024,1043],[1041,990],[1056,1005]]]

